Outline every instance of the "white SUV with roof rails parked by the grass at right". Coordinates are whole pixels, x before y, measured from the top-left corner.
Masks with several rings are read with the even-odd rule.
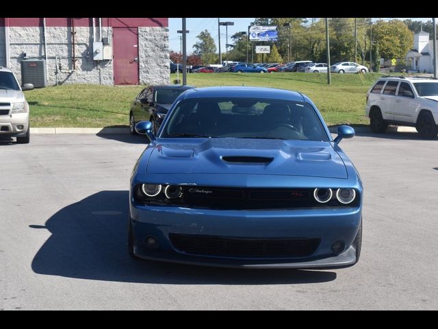
[[[422,138],[438,134],[438,80],[382,77],[368,90],[365,114],[373,132],[387,125],[415,127]]]

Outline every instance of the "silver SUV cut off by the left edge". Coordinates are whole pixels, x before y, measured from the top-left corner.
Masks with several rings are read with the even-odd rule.
[[[29,104],[23,90],[34,89],[25,84],[23,89],[10,69],[0,66],[0,136],[16,137],[16,143],[29,143]]]

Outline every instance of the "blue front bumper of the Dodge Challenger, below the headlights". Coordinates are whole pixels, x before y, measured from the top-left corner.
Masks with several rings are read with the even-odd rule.
[[[353,241],[361,222],[361,208],[294,210],[205,210],[130,203],[129,225],[133,252],[139,258],[215,267],[329,269],[354,265]],[[306,257],[217,256],[178,250],[170,234],[220,236],[233,239],[307,239],[320,243]],[[152,236],[157,246],[147,247]],[[331,247],[344,241],[341,254]]]

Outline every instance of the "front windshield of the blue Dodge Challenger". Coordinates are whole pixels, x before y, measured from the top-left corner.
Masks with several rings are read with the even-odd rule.
[[[309,103],[248,98],[183,99],[161,137],[329,141]]]

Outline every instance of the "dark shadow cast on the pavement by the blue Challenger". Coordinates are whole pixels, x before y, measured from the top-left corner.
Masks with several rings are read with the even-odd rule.
[[[127,252],[128,191],[101,191],[66,206],[45,226],[49,239],[35,273],[86,280],[158,284],[302,284],[335,280],[333,271],[222,269],[133,260]]]

